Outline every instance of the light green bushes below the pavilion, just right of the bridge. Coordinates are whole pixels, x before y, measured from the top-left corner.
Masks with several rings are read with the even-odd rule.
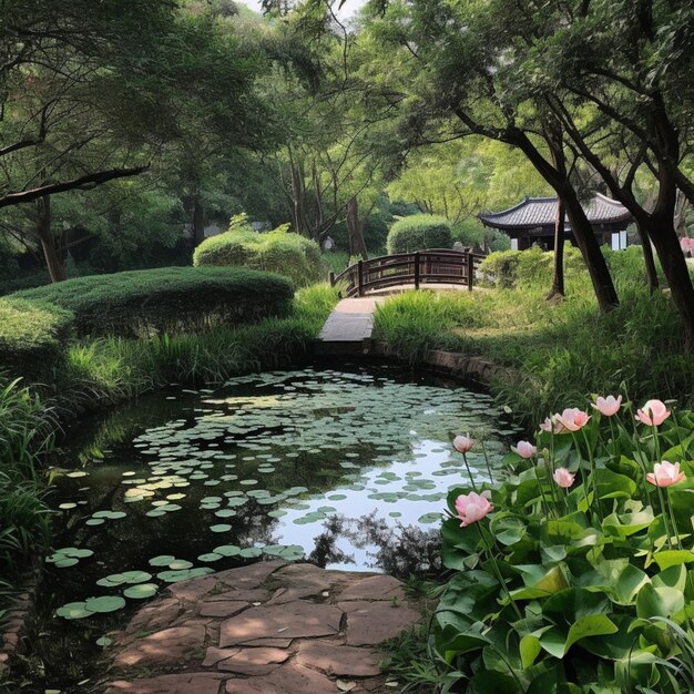
[[[643,257],[641,258],[643,264]],[[554,254],[532,247],[528,251],[501,251],[490,253],[480,264],[480,273],[504,289],[537,285],[549,286],[552,279]],[[564,274],[568,278],[585,274],[585,264],[581,252],[567,245],[564,247]]]

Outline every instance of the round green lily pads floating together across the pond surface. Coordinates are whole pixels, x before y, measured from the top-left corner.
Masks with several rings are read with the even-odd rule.
[[[99,579],[118,593],[113,602],[89,599],[58,614],[82,619],[118,610],[123,598],[150,598],[229,558],[302,559],[335,516],[376,510],[391,524],[438,522],[448,489],[465,473],[450,433],[483,429],[493,466],[504,452],[501,437],[511,431],[498,425],[501,411],[487,395],[384,374],[305,369],[232,379],[218,391],[197,391],[193,409],[186,398],[180,419],[137,436],[125,463],[122,453],[106,455],[80,483],[95,483],[96,466],[122,466],[112,497],[118,510],[95,511],[86,524],[108,525],[118,537],[122,525],[111,521],[127,517],[129,533],[133,525],[137,535],[170,532],[162,549],[182,542],[187,559],[140,557],[124,567],[132,570]],[[468,462],[480,481],[487,477],[481,450]],[[197,551],[178,534],[188,525],[196,528]],[[76,564],[80,555],[68,550],[88,551],[59,550],[57,567]],[[102,551],[109,551],[105,537]]]

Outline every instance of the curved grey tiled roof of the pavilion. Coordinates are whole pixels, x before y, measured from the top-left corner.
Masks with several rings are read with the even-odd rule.
[[[622,203],[598,193],[592,202],[583,205],[591,224],[609,224],[627,222],[631,213]],[[525,197],[523,201],[503,212],[480,213],[477,216],[487,226],[496,228],[532,228],[535,226],[553,226],[557,215],[555,197]],[[569,220],[567,229],[571,228]]]

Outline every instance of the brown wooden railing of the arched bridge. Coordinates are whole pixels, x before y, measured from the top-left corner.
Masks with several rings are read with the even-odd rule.
[[[428,248],[414,253],[384,255],[359,261],[338,275],[330,273],[330,284],[347,284],[347,296],[398,285],[452,284],[472,290],[477,266],[483,255],[469,251]]]

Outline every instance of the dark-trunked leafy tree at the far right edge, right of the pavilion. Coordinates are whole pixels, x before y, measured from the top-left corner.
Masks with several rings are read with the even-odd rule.
[[[557,0],[545,11],[551,31],[528,52],[524,70],[548,94],[571,146],[653,243],[693,346],[694,287],[675,212],[677,190],[694,201],[685,173],[693,144],[694,8],[666,0]],[[622,171],[610,166],[618,152],[629,161]],[[652,205],[635,190],[644,169],[657,190]]]

